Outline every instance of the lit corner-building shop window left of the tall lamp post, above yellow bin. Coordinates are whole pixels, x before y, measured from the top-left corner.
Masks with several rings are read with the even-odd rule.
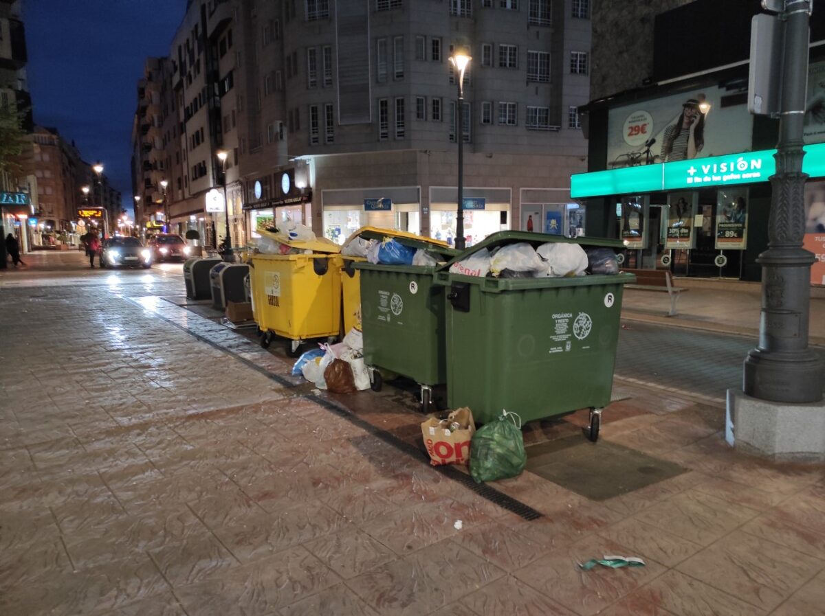
[[[362,226],[421,234],[417,186],[323,190],[323,236],[343,244]]]

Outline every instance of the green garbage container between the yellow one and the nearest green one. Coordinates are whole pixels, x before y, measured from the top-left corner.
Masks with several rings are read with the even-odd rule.
[[[440,262],[458,254],[424,238],[394,240],[427,250]],[[370,366],[373,389],[381,387],[376,369],[407,376],[421,385],[422,408],[427,410],[431,387],[446,381],[444,287],[433,284],[436,266],[357,262],[352,267],[361,272],[364,361]]]

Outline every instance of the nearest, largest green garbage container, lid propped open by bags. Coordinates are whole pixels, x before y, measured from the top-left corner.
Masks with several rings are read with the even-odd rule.
[[[620,249],[620,240],[569,239],[501,231],[436,273],[446,287],[446,383],[450,408],[467,406],[479,423],[502,408],[523,422],[591,409],[596,441],[610,404],[622,291],[632,274],[575,278],[480,278],[450,273],[477,250],[514,242],[572,242]]]

